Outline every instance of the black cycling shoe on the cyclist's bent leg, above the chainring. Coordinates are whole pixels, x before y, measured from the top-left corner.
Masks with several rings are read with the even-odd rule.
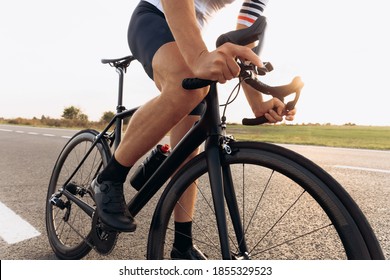
[[[132,232],[137,225],[126,212],[123,184],[111,181],[92,181],[91,189],[96,203],[96,211],[105,225],[117,231]]]

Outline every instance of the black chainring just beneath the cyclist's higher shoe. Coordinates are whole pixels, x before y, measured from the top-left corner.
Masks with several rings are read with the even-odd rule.
[[[100,221],[96,211],[92,217],[91,236],[96,252],[108,255],[112,252],[118,239],[119,232],[115,231]]]

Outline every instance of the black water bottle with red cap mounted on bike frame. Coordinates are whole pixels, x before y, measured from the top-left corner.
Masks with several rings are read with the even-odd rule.
[[[139,191],[170,152],[171,147],[168,144],[157,145],[131,176],[130,184],[133,188]]]

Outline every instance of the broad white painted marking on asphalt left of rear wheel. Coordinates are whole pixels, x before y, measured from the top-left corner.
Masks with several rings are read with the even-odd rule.
[[[15,244],[41,234],[1,202],[0,213],[0,237],[8,244]]]

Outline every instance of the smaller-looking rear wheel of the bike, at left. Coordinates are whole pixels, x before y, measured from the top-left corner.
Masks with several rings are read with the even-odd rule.
[[[89,129],[75,134],[61,151],[53,168],[46,199],[46,230],[50,246],[60,259],[81,259],[93,247],[92,217],[61,194],[60,189],[69,180],[98,134],[97,131]],[[102,138],[65,188],[72,186],[71,192],[94,208],[88,187],[102,166],[106,166],[110,157],[110,148],[107,141]],[[61,205],[66,205],[64,209],[53,205],[52,198],[55,194],[58,194],[56,199],[61,200]]]

